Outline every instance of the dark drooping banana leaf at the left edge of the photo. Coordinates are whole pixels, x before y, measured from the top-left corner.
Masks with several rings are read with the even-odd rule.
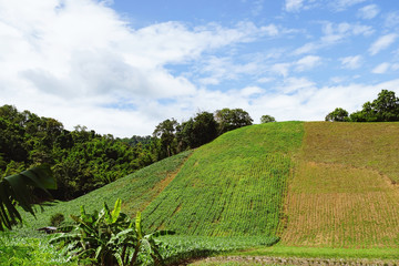
[[[0,231],[11,229],[12,225],[22,222],[17,205],[34,216],[31,187],[41,188],[48,194],[47,190],[57,190],[49,165],[39,165],[0,181]]]

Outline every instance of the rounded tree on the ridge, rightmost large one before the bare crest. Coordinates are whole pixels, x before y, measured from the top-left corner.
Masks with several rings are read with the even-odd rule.
[[[215,112],[215,119],[218,123],[218,133],[239,129],[245,125],[252,125],[253,119],[242,109],[222,109]]]

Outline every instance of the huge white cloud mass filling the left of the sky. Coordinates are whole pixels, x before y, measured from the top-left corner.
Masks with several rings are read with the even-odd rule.
[[[117,136],[149,134],[163,119],[191,115],[196,106],[181,99],[200,89],[167,64],[278,34],[274,24],[252,22],[134,29],[92,0],[1,1],[0,104],[58,119],[70,130],[82,124]],[[241,66],[238,73],[254,68]]]

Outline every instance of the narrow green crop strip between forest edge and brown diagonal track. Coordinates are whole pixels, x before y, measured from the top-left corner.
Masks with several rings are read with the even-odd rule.
[[[69,215],[78,215],[81,205],[84,205],[88,212],[101,209],[104,202],[112,207],[117,198],[122,200],[122,212],[134,217],[137,211],[143,211],[173,180],[191,154],[192,151],[162,160],[76,200],[44,207],[44,212],[37,213],[37,218],[24,214],[23,218],[28,226],[22,232],[27,234],[50,225],[50,217],[57,213],[62,213],[65,222],[71,221]]]

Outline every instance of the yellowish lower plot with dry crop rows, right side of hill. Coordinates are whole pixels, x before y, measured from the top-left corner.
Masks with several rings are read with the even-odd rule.
[[[399,247],[399,194],[377,171],[301,162],[287,197],[288,245]]]

